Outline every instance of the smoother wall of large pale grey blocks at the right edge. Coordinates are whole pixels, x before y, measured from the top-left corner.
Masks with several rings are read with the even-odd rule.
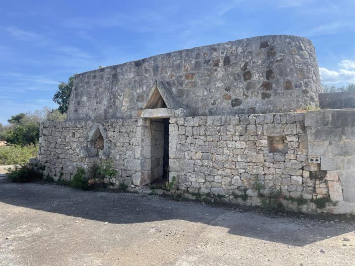
[[[319,155],[320,169],[328,171],[330,197],[355,203],[355,110],[309,112],[305,125],[308,153]]]

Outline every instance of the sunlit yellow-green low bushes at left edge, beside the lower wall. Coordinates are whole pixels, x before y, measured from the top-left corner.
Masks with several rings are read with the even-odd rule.
[[[26,164],[30,158],[36,157],[38,145],[8,145],[0,147],[0,164]]]

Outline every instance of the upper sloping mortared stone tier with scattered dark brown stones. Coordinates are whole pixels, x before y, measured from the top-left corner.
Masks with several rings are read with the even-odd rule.
[[[67,119],[134,118],[155,80],[165,81],[193,116],[291,111],[317,104],[320,92],[310,40],[260,36],[78,74]]]

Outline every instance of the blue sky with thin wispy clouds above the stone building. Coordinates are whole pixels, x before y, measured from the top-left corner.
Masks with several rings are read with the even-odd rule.
[[[0,123],[55,108],[59,81],[155,54],[290,34],[316,47],[322,82],[355,82],[354,0],[2,1]]]

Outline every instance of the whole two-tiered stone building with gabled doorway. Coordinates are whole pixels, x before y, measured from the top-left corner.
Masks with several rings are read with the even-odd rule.
[[[174,179],[183,195],[262,205],[279,192],[291,209],[324,198],[353,212],[355,111],[296,112],[320,93],[311,41],[287,35],[104,67],[76,75],[67,121],[41,125],[39,163],[70,179],[111,160],[116,184]]]

